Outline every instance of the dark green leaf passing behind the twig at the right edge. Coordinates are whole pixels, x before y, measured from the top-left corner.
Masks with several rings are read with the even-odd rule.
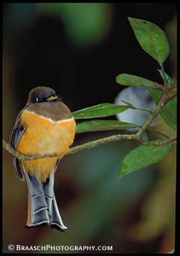
[[[161,91],[152,90],[149,88],[146,88],[146,89],[149,91],[149,94],[151,95],[152,99],[154,99],[154,102],[158,104],[163,93]],[[171,101],[165,105],[163,110],[160,111],[160,116],[162,116],[166,124],[168,124],[168,126],[173,129],[176,129],[176,116],[177,116],[176,110],[177,110],[177,102],[175,99],[171,99]]]

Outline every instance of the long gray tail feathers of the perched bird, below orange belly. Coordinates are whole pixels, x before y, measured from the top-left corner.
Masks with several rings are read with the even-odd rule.
[[[50,225],[65,232],[67,227],[60,217],[54,195],[54,173],[45,183],[25,171],[28,185],[28,220],[26,227]]]

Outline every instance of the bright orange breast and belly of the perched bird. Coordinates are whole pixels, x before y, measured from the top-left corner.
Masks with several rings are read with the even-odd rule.
[[[27,127],[17,150],[27,155],[60,154],[60,157],[26,160],[21,162],[24,170],[46,181],[55,169],[58,159],[69,153],[74,141],[76,123],[74,118],[52,121],[28,110],[23,111],[21,122]]]

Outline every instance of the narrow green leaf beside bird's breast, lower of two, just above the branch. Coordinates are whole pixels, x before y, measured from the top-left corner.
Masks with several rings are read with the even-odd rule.
[[[112,129],[129,129],[141,127],[139,124],[130,124],[115,120],[83,121],[77,124],[76,133],[108,131]]]

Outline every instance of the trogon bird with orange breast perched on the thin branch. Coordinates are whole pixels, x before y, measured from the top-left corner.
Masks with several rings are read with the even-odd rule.
[[[75,129],[71,111],[53,89],[38,86],[30,91],[25,108],[17,116],[10,145],[28,156],[56,153],[58,157],[23,161],[13,157],[17,176],[22,181],[26,178],[28,186],[26,227],[67,229],[55,200],[54,176],[58,162],[69,153]]]

